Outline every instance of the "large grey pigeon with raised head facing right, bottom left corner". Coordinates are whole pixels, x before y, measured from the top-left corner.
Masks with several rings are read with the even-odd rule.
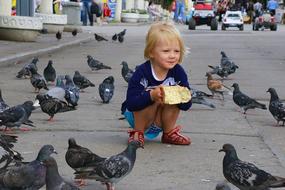
[[[35,160],[8,167],[5,172],[1,173],[3,186],[19,190],[40,189],[46,181],[46,166],[43,161],[53,153],[57,154],[52,145],[44,145]]]

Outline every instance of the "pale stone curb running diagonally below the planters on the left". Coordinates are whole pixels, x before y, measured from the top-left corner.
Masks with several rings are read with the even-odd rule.
[[[93,38],[89,36],[89,37],[86,37],[83,39],[77,39],[77,40],[74,40],[71,42],[66,42],[66,43],[51,46],[48,48],[32,50],[32,51],[28,51],[28,52],[18,53],[16,55],[3,57],[3,58],[0,58],[0,67],[7,67],[7,66],[14,64],[15,62],[17,62],[19,60],[25,60],[25,59],[29,59],[31,57],[36,57],[36,56],[51,53],[54,51],[58,51],[58,50],[63,49],[65,47],[74,46],[74,45],[78,45],[80,43],[88,42],[91,39],[93,39]]]

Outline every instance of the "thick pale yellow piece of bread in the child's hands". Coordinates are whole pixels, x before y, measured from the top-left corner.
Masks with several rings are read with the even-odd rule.
[[[191,100],[190,90],[182,86],[163,86],[164,103],[165,104],[180,104],[187,103]]]

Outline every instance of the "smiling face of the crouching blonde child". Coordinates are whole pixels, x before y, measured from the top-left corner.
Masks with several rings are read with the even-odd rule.
[[[162,69],[172,69],[180,59],[180,46],[177,40],[170,42],[158,41],[150,53],[152,63]]]

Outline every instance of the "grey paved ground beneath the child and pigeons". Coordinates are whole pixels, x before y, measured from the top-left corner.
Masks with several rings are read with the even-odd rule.
[[[117,119],[121,117],[120,106],[127,88],[120,75],[120,63],[125,60],[134,68],[143,62],[144,38],[148,26],[127,26],[127,38],[123,44],[98,43],[92,36],[93,32],[98,32],[110,38],[114,32],[123,28],[125,27],[87,27],[79,38],[90,38],[89,42],[39,57],[40,71],[52,59],[58,74],[73,75],[74,70],[79,70],[96,87],[89,88],[80,95],[78,110],[56,115],[54,123],[48,123],[48,115],[40,110],[32,114],[31,120],[37,128],[31,132],[17,132],[19,143],[16,144],[16,149],[23,153],[26,160],[33,159],[43,144],[53,144],[59,152],[55,158],[60,173],[71,178],[73,171],[64,161],[69,137],[75,137],[79,144],[102,156],[118,153],[125,148],[128,125]],[[275,87],[280,97],[285,97],[284,26],[280,26],[277,32],[252,32],[251,26],[246,26],[243,32],[235,29],[212,32],[205,27],[189,31],[183,25],[178,25],[178,28],[190,48],[191,53],[185,58],[183,66],[195,88],[207,91],[204,76],[208,70],[207,65],[218,64],[219,52],[224,50],[240,66],[237,73],[230,77],[231,80],[225,81],[228,86],[238,82],[242,91],[267,105],[269,94],[266,90],[269,87]],[[0,41],[0,59],[12,56],[15,50],[17,53],[35,51],[73,40],[70,34],[65,34],[62,41],[57,41],[53,35],[24,45]],[[86,63],[87,54],[102,60],[113,69],[91,72]],[[4,99],[11,105],[35,97],[29,80],[15,78],[21,67],[22,64],[0,67],[0,87]],[[102,105],[97,88],[109,75],[115,77],[116,92],[110,104]],[[179,124],[184,126],[183,131],[192,138],[191,146],[161,144],[160,138],[146,141],[145,149],[137,152],[133,172],[117,185],[117,189],[214,189],[218,181],[224,180],[223,154],[218,153],[224,143],[235,145],[242,160],[253,162],[275,175],[285,176],[284,128],[273,127],[275,121],[270,113],[250,110],[245,118],[231,97],[226,97],[224,103],[220,100],[210,101],[216,105],[215,110],[193,105],[191,111],[183,112],[179,118]],[[84,189],[101,190],[105,187],[90,181]]]

